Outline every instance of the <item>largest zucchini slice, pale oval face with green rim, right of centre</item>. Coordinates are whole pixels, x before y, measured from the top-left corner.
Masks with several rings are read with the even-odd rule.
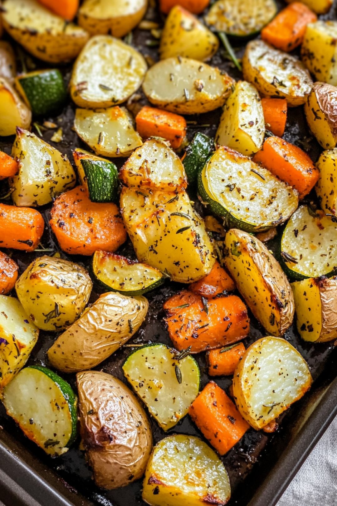
[[[198,178],[198,190],[228,228],[268,230],[286,221],[298,206],[298,193],[250,158],[221,146]]]

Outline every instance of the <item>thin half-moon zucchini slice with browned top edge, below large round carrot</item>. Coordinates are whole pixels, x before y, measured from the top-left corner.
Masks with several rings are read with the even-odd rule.
[[[157,288],[165,279],[154,267],[102,250],[93,254],[92,271],[109,290],[130,296],[143,295]]]

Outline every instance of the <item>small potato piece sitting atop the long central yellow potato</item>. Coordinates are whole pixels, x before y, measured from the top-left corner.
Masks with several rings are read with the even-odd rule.
[[[187,187],[184,166],[178,155],[159,139],[149,139],[137,148],[119,172],[128,187],[181,190]]]

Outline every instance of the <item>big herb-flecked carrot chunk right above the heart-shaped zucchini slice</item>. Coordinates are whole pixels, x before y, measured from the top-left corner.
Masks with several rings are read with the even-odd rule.
[[[177,350],[190,346],[191,353],[199,353],[236,343],[249,333],[247,308],[236,295],[206,299],[184,290],[166,301],[164,309]]]

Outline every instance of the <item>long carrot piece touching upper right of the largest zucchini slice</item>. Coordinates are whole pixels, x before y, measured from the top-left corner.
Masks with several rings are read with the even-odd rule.
[[[253,160],[296,188],[300,198],[310,192],[319,178],[319,172],[307,153],[279,137],[268,137]]]

